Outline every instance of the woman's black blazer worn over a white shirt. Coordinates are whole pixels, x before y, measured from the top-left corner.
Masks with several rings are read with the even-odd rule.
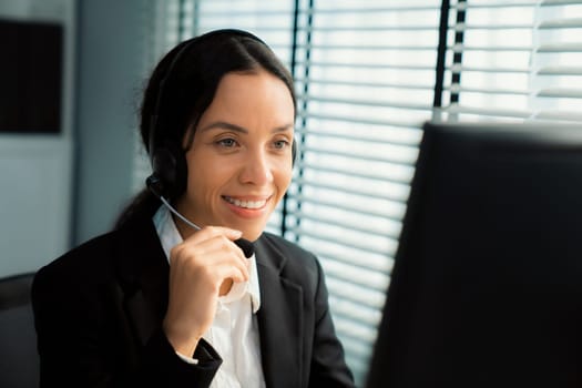
[[[353,387],[316,257],[279,237],[255,243],[267,387]],[[169,344],[169,264],[151,219],[96,237],[41,268],[32,288],[41,387],[207,387],[222,360],[204,340],[196,366]]]

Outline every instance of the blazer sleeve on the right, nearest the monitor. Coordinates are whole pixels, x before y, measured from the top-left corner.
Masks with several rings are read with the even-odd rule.
[[[328,305],[324,272],[318,261],[315,294],[315,335],[309,387],[355,387],[351,371],[345,363],[344,348],[336,336]]]

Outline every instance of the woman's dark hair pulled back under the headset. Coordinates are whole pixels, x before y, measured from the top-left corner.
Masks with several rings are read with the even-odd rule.
[[[188,127],[196,129],[225,74],[258,70],[280,79],[296,108],[292,74],[259,38],[241,30],[216,30],[177,44],[157,63],[143,94],[140,134],[147,153],[165,142],[183,143]],[[194,131],[188,144],[193,136]],[[137,215],[153,216],[160,204],[147,188],[142,190],[121,213],[115,227]]]

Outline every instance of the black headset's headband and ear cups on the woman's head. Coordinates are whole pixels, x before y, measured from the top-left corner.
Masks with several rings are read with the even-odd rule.
[[[152,165],[152,174],[146,178],[147,188],[152,191],[157,197],[167,200],[175,200],[180,194],[186,190],[187,183],[187,164],[184,150],[182,149],[178,139],[171,139],[162,136],[163,125],[166,122],[162,112],[162,101],[164,99],[164,89],[166,83],[172,78],[172,73],[177,68],[178,62],[185,53],[191,51],[201,40],[219,35],[228,34],[234,37],[251,38],[264,45],[267,45],[263,40],[254,34],[236,29],[215,30],[200,37],[192,38],[185,41],[184,47],[175,54],[174,59],[167,67],[167,70],[160,81],[157,90],[157,99],[155,102],[154,113],[150,119],[150,135],[149,135],[149,153]],[[296,144],[293,142],[293,160],[295,161]]]

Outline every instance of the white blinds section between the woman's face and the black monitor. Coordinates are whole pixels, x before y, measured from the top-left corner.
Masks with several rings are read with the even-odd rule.
[[[294,75],[300,157],[285,236],[315,252],[358,382],[368,368],[430,119],[437,1],[302,1]]]

